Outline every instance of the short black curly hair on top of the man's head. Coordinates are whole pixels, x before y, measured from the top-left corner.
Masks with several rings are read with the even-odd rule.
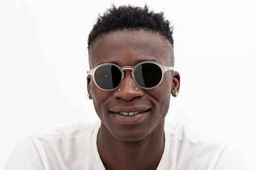
[[[173,26],[164,18],[163,12],[154,13],[149,11],[147,5],[144,8],[133,6],[120,6],[116,8],[112,5],[103,16],[99,14],[97,23],[94,25],[88,37],[88,50],[91,44],[101,35],[118,30],[139,30],[158,32],[172,46]]]

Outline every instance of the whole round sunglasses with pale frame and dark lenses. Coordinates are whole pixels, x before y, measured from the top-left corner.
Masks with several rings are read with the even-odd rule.
[[[163,80],[165,71],[174,70],[173,67],[163,66],[152,61],[144,61],[136,66],[119,67],[116,64],[101,64],[87,74],[92,75],[97,87],[105,91],[117,89],[123,81],[123,70],[132,70],[134,82],[143,89],[152,89],[157,87]]]

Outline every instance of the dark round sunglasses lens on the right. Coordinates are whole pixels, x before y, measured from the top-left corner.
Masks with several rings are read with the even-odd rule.
[[[135,69],[134,76],[139,85],[151,88],[159,84],[161,81],[162,70],[156,64],[144,63]]]

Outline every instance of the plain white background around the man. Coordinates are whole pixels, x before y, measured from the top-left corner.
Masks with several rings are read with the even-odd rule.
[[[98,120],[86,96],[87,38],[111,3],[146,3],[175,24],[181,89],[166,121],[231,140],[255,169],[253,1],[159,0],[0,0],[0,169],[29,134]]]

